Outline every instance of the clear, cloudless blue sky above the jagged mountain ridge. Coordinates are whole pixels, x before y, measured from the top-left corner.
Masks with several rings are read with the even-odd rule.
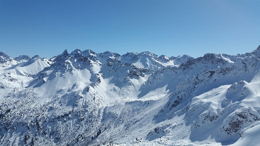
[[[0,0],[0,51],[237,55],[260,45],[260,0]]]

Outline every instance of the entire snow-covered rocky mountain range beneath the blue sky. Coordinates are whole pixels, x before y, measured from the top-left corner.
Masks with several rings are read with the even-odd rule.
[[[258,146],[260,46],[203,57],[0,52],[1,146]]]

